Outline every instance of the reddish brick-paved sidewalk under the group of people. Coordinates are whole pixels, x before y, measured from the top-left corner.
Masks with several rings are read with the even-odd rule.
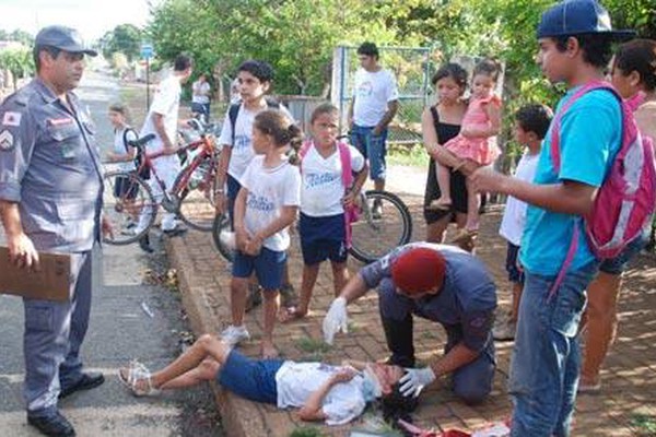
[[[423,177],[418,178],[423,180]],[[406,185],[407,187],[408,185]],[[413,239],[424,236],[421,198],[417,193],[402,193],[411,209]],[[483,218],[478,255],[485,261],[499,286],[500,307],[508,308],[509,290],[505,280],[505,243],[496,229],[501,211],[490,212]],[[184,305],[197,333],[219,332],[230,322],[230,267],[220,257],[209,234],[189,232],[184,238],[168,243],[172,264],[177,269]],[[361,264],[351,262],[351,270]],[[290,276],[300,287],[302,259],[297,238],[290,251]],[[574,436],[636,436],[656,435],[656,260],[640,257],[634,270],[626,275],[620,304],[620,332],[608,357],[602,374],[604,389],[598,395],[582,395],[577,402]],[[377,298],[370,293],[349,306],[353,326],[348,335],[339,335],[332,347],[321,342],[320,326],[332,300],[332,279],[329,265],[324,265],[312,300],[312,314],[289,324],[276,327],[277,345],[283,356],[291,359],[323,359],[340,363],[343,358],[382,361],[388,356],[385,336],[379,323]],[[246,326],[253,340],[242,351],[257,356],[261,333],[261,308],[246,316]],[[442,329],[418,320],[415,322],[418,358],[426,359],[441,352],[445,344]],[[497,371],[492,394],[482,405],[475,408],[458,402],[443,378],[422,393],[422,403],[414,414],[415,423],[435,429],[461,428],[471,430],[491,421],[507,418],[511,400],[506,392],[512,342],[497,343]],[[223,427],[229,436],[288,436],[298,426],[307,426],[292,412],[245,401],[216,388],[218,405]],[[342,427],[317,425],[321,433],[347,436],[352,428],[371,423],[375,410],[368,409],[363,420]],[[646,433],[646,434],[641,434]]]

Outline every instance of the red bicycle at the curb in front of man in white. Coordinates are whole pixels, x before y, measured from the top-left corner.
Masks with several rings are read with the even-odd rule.
[[[201,133],[198,140],[179,147],[178,154],[192,153],[192,156],[177,175],[172,189],[166,189],[153,166],[153,160],[166,153],[145,153],[145,144],[154,138],[154,134],[148,134],[128,143],[138,150],[138,156],[143,156],[137,170],[115,170],[104,175],[103,213],[114,228],[114,235],[104,238],[109,245],[132,244],[144,236],[155,222],[159,205],[150,185],[139,176],[147,169],[163,192],[161,205],[165,211],[175,213],[194,229],[212,229],[215,210],[214,176],[220,154],[213,135]],[[138,228],[137,222],[144,211],[148,214],[145,226]]]

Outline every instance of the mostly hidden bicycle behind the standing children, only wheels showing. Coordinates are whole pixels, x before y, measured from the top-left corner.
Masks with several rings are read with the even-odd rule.
[[[412,236],[412,216],[403,201],[388,191],[360,193],[360,218],[351,224],[349,252],[366,264],[384,257]],[[233,236],[226,214],[218,215],[212,226],[212,240],[219,252],[234,260]]]

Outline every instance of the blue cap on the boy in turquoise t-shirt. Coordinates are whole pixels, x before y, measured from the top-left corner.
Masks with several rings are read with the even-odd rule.
[[[564,0],[551,7],[538,25],[538,38],[581,34],[605,34],[631,39],[634,31],[613,31],[608,11],[597,0]]]

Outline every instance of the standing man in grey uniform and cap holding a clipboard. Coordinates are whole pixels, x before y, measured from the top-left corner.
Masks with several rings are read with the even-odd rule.
[[[36,36],[37,75],[0,106],[0,216],[11,260],[30,269],[38,251],[71,255],[68,302],[23,299],[24,397],[27,422],[48,436],[74,436],[58,398],[104,382],[82,371],[80,346],[89,326],[91,250],[101,232],[103,177],[94,126],[71,92],[84,71],[86,48],[63,26]]]

